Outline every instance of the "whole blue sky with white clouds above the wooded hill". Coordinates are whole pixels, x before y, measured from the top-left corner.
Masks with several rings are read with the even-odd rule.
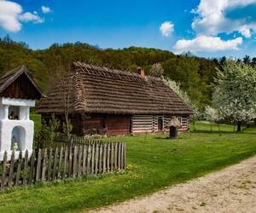
[[[103,49],[253,57],[254,11],[256,0],[0,0],[0,37],[9,34],[32,49],[80,41]]]

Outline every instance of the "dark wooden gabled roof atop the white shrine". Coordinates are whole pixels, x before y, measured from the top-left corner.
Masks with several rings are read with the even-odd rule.
[[[24,82],[24,85],[17,83],[19,78],[26,79],[26,82]],[[17,83],[18,87],[16,85],[15,88],[10,89],[10,86],[13,83]],[[22,90],[22,89],[24,91],[18,91],[17,93],[17,90]],[[26,95],[27,93],[26,90],[29,90],[29,89],[30,89],[30,92],[29,92],[30,94],[28,95],[29,99],[40,99],[41,97],[45,97],[42,90],[38,87],[38,84],[33,80],[30,72],[28,72],[28,70],[26,69],[26,66],[19,66],[14,70],[7,72],[5,75],[3,75],[2,78],[0,78],[0,96],[13,98],[12,95],[15,95],[15,93],[17,93],[16,95],[18,96],[20,94]]]

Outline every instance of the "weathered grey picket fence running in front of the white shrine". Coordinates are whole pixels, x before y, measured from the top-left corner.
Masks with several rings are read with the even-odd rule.
[[[0,162],[1,189],[31,185],[36,181],[55,181],[86,174],[97,175],[113,170],[125,170],[125,142],[98,142],[74,147],[38,149],[29,157],[10,160],[5,152]]]

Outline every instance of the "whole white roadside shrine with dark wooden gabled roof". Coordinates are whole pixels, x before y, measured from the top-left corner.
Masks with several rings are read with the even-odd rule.
[[[20,66],[0,78],[0,158],[7,151],[32,153],[34,123],[30,108],[44,96],[26,66]],[[25,152],[24,152],[25,153]]]

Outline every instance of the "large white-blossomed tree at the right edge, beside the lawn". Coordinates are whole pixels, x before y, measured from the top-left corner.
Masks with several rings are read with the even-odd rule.
[[[213,103],[218,106],[220,114],[241,124],[256,118],[256,70],[253,66],[226,60],[222,71],[217,72]]]

